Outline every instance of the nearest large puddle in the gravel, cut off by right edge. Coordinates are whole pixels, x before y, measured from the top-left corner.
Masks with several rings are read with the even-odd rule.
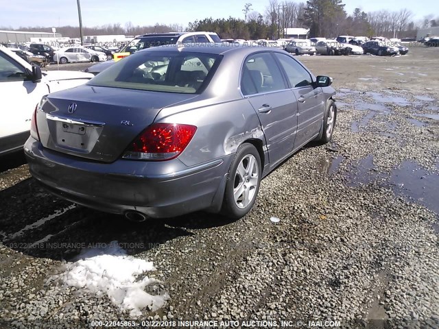
[[[392,171],[394,193],[415,200],[439,214],[439,175],[421,169],[416,162],[404,161]]]

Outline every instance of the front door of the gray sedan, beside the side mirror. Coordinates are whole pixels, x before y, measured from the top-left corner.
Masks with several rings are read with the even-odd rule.
[[[298,101],[297,136],[295,145],[301,147],[320,132],[325,110],[322,88],[314,88],[307,69],[285,53],[274,53],[285,71],[289,87]]]

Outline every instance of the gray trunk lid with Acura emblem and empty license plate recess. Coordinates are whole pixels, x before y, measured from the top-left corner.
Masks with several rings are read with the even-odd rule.
[[[86,85],[63,90],[37,111],[40,141],[64,154],[113,162],[162,108],[196,96]]]

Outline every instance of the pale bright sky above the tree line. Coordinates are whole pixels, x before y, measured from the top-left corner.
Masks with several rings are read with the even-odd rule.
[[[20,26],[57,27],[78,26],[78,8],[75,0],[1,0],[0,25],[17,28]],[[212,0],[82,0],[82,24],[87,27],[131,21],[133,25],[155,25],[156,23],[178,23],[186,27],[196,19],[228,16],[244,19],[242,9],[245,3],[252,3],[252,9],[265,12],[268,0],[212,1]],[[279,1],[281,2],[281,1]],[[414,13],[414,20],[438,12],[437,0],[345,0],[346,11],[354,8],[364,12],[375,10],[400,10],[407,8]]]

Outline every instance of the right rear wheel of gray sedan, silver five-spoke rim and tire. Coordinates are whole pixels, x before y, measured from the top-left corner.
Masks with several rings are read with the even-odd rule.
[[[249,143],[240,145],[228,172],[222,215],[239,219],[250,211],[261,184],[261,171],[261,158],[256,147]]]

